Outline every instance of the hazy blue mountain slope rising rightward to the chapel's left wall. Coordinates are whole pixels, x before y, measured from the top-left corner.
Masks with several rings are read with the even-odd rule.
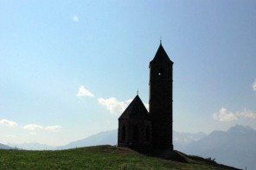
[[[55,149],[80,148],[96,145],[116,145],[118,144],[118,129],[99,132],[99,134],[91,135],[85,139],[70,142],[65,146]]]

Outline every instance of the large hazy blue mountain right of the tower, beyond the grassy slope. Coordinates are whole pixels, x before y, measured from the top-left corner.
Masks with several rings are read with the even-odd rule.
[[[256,130],[236,125],[227,131],[213,131],[182,149],[186,154],[211,157],[228,166],[256,169]]]

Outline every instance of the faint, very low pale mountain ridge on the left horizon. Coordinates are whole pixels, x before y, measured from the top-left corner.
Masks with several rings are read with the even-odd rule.
[[[20,148],[24,150],[52,150],[56,148],[55,146],[50,146],[50,145],[41,144],[37,142],[16,143],[16,144],[11,144],[11,146],[15,146],[16,148]]]

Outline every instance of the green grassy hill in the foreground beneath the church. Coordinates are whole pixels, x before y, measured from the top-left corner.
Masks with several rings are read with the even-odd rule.
[[[129,148],[97,146],[57,151],[0,150],[0,169],[234,169],[176,152],[187,161],[170,161]]]

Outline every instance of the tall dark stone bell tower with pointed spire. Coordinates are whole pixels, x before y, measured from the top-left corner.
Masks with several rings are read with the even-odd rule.
[[[153,148],[171,149],[172,143],[172,77],[173,62],[163,49],[150,61],[150,116]]]

